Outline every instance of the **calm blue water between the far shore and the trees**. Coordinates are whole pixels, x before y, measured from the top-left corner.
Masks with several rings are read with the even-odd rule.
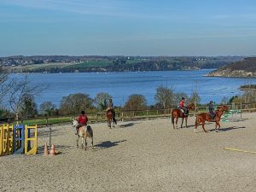
[[[38,106],[42,102],[53,102],[57,107],[62,96],[73,93],[86,93],[94,98],[97,93],[107,92],[113,96],[115,106],[123,106],[131,94],[146,96],[148,104],[154,104],[156,88],[160,85],[183,91],[189,96],[197,87],[201,102],[210,100],[221,102],[224,96],[241,94],[241,84],[256,84],[256,79],[209,78],[205,77],[212,70],[199,71],[165,71],[137,73],[31,73],[28,74],[32,84],[47,86],[36,98]],[[14,74],[22,78],[22,74]]]

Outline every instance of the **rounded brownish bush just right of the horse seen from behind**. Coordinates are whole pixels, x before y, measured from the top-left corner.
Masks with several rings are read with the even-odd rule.
[[[145,110],[147,108],[147,99],[143,95],[133,94],[125,102],[125,110]]]

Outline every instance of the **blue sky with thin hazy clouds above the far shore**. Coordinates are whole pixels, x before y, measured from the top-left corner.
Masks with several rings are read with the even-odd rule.
[[[255,0],[0,0],[0,56],[255,51]]]

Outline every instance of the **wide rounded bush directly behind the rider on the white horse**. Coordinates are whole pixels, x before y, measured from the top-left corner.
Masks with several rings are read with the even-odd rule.
[[[93,100],[87,94],[77,93],[63,96],[61,99],[60,111],[64,114],[77,114],[81,113],[92,106]]]

